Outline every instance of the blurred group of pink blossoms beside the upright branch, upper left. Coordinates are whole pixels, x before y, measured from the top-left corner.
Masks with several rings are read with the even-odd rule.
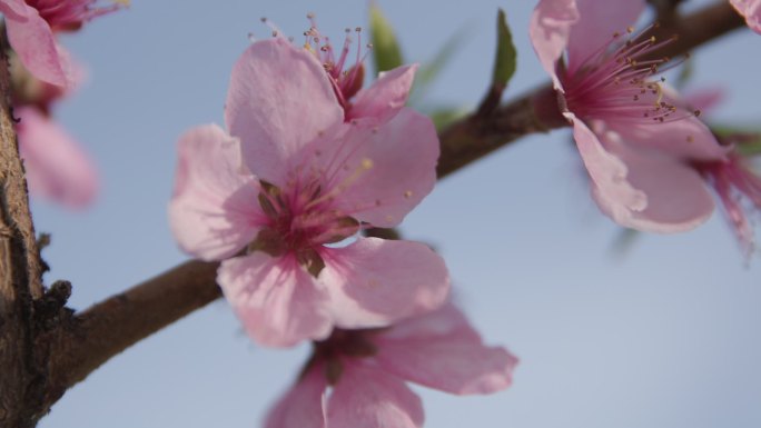
[[[81,67],[57,42],[92,18],[127,2],[0,0],[11,59],[16,131],[30,191],[68,207],[83,207],[98,191],[98,173],[79,143],[50,118],[53,103],[82,80]]]

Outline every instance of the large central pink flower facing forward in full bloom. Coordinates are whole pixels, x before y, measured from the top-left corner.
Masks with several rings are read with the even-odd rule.
[[[185,251],[224,260],[218,282],[257,341],[387,326],[444,301],[448,273],[428,247],[330,245],[398,225],[433,189],[438,138],[428,118],[397,102],[414,67],[402,70],[359,92],[353,109],[363,115],[347,121],[314,54],[283,38],[259,41],[233,70],[233,137],[216,126],[181,137],[172,231]]]

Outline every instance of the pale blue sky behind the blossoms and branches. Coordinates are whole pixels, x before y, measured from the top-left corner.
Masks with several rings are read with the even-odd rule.
[[[461,50],[431,88],[434,104],[472,107],[482,97],[497,8],[507,12],[520,61],[505,98],[547,80],[526,36],[534,1],[378,3],[408,61],[431,59],[464,29]],[[135,0],[63,39],[90,79],[55,112],[97,160],[102,192],[83,212],[43,201],[32,208],[38,231],[52,233],[46,279],[71,280],[75,308],[187,259],[166,213],[176,139],[223,123],[247,34],[268,37],[260,17],[299,36],[309,11],[334,38],[367,22],[367,3],[356,0]],[[694,52],[693,87],[727,90],[716,120],[758,123],[760,48],[761,36],[739,31]],[[744,262],[720,211],[693,232],[640,235],[614,251],[621,229],[593,205],[562,130],[448,177],[403,232],[441,251],[485,340],[521,358],[514,386],[490,397],[416,388],[426,427],[761,426],[761,260]],[[254,345],[219,300],[108,361],[40,426],[257,427],[307,351]]]

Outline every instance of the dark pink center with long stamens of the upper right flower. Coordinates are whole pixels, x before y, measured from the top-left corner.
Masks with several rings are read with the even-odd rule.
[[[572,63],[574,69],[561,67],[559,76],[570,111],[581,118],[607,117],[634,122],[664,122],[685,117],[675,115],[678,108],[661,84],[665,79],[652,80],[664,71],[660,67],[669,62],[669,58],[649,59],[649,56],[672,40],[643,39],[642,34],[648,30],[632,34],[630,28],[626,31],[630,37],[624,41],[621,33],[615,33],[589,58]],[[669,64],[670,68],[674,66]]]

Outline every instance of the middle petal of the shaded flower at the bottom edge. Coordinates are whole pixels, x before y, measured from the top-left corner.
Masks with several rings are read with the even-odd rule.
[[[330,428],[421,428],[421,398],[383,371],[348,365],[328,400]]]

